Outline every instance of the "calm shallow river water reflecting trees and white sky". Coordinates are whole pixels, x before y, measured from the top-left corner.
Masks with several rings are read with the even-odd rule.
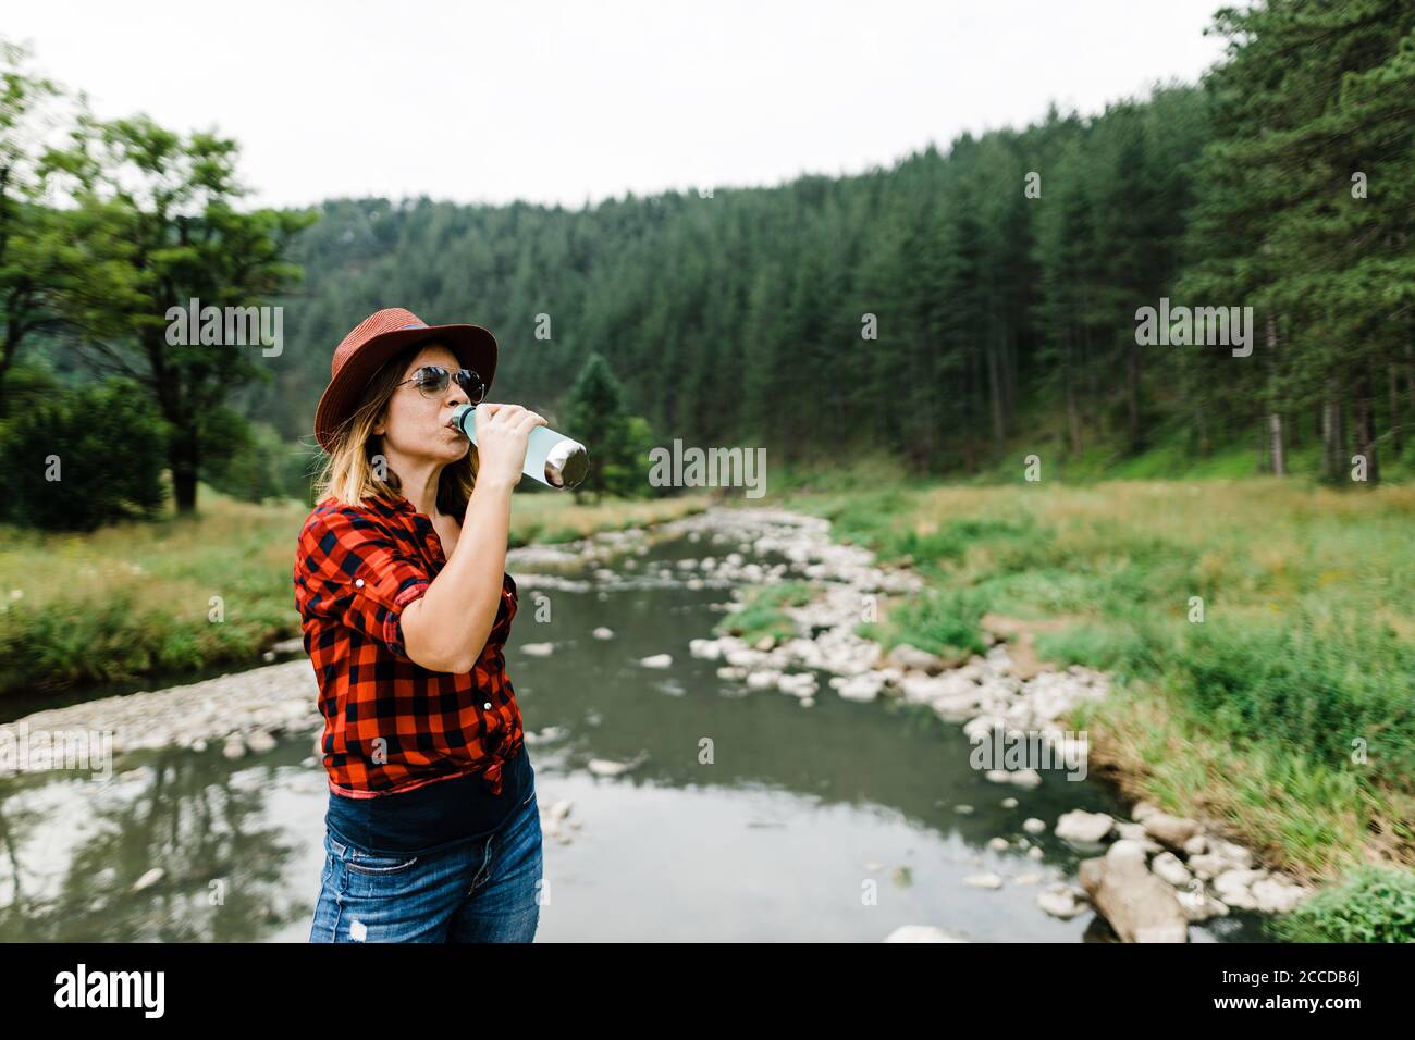
[[[809,707],[717,678],[719,662],[692,658],[688,641],[712,634],[730,591],[691,587],[675,566],[705,552],[654,542],[617,573],[672,577],[641,584],[584,569],[572,574],[583,589],[543,589],[543,620],[533,577],[521,587],[507,659],[539,804],[543,815],[572,804],[562,836],[546,835],[536,941],[873,942],[907,924],[979,942],[1109,938],[1092,913],[1056,920],[1036,896],[1074,883],[1094,855],[1051,835],[1057,816],[1124,818],[1114,791],[1061,773],[1033,790],[990,782],[958,726],[893,699],[842,699],[824,674]],[[614,638],[594,638],[599,625]],[[549,657],[522,649],[543,642]],[[665,652],[666,669],[638,664]],[[313,734],[287,736],[231,761],[216,741],[133,754],[106,784],[0,780],[0,941],[306,941],[324,857],[311,750]],[[607,777],[591,760],[634,765]],[[1047,832],[1024,835],[1027,816]],[[998,836],[1006,850],[988,848]],[[1002,887],[964,883],[981,872]],[[1234,911],[1190,938],[1262,931]]]

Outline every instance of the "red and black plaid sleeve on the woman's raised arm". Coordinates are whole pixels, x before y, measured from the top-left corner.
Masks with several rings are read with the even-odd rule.
[[[403,647],[403,607],[432,583],[423,563],[405,555],[375,521],[337,511],[313,516],[300,543],[300,613],[333,617],[412,662]]]

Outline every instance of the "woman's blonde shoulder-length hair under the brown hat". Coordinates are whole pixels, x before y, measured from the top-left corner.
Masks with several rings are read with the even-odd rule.
[[[381,480],[374,458],[382,451],[382,436],[372,433],[374,423],[382,415],[388,399],[393,396],[403,372],[412,359],[429,345],[440,345],[436,340],[406,347],[398,357],[388,361],[369,379],[354,412],[340,423],[334,446],[324,456],[318,475],[314,480],[314,501],[334,498],[344,505],[362,507],[366,497],[398,498],[403,483],[385,457]],[[467,511],[467,499],[477,484],[477,446],[456,463],[443,467],[437,478],[437,511],[461,516]]]

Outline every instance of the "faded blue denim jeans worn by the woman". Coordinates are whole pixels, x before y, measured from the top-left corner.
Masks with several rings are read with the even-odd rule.
[[[541,920],[535,788],[495,831],[374,853],[324,829],[310,942],[531,942]]]

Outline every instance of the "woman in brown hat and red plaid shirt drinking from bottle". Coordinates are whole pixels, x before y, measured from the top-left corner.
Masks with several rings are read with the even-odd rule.
[[[294,560],[330,787],[311,942],[535,937],[541,816],[502,648],[511,491],[545,419],[480,403],[495,365],[487,330],[398,307],[334,352]],[[449,424],[467,403],[475,446]]]

